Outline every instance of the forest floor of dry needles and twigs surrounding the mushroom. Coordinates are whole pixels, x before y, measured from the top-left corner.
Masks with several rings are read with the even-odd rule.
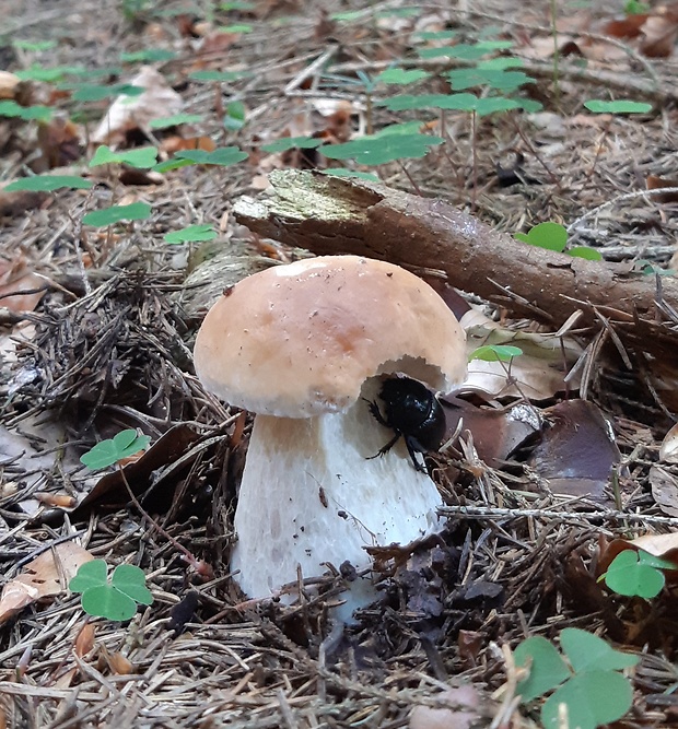
[[[563,44],[571,55],[562,59],[556,93],[550,51],[540,45],[550,21],[539,8],[521,5],[518,20],[517,11],[491,2],[466,12],[442,4],[389,14],[400,4],[328,2],[320,9],[270,1],[254,10],[214,9],[213,17],[204,8],[187,9],[179,17],[171,12],[178,3],[68,4],[34,0],[17,10],[0,3],[0,68],[79,64],[107,69],[102,78],[113,83],[128,81],[141,64],[121,60],[121,52],[171,50],[172,58],[154,64],[180,94],[183,110],[202,115],[179,136],[237,145],[249,158],[139,180],[117,167],[93,172],[65,139],[47,148],[58,150],[59,164],[51,166],[92,175],[95,187],[2,200],[9,207],[2,209],[0,255],[44,277],[26,280],[23,291],[45,293],[28,314],[0,310],[3,581],[39,554],[78,541],[109,565],[140,566],[154,597],[124,624],[87,622],[80,598],[66,591],[7,620],[0,626],[7,726],[417,729],[425,725],[416,724],[412,707],[440,706],[443,691],[464,682],[475,687],[480,726],[493,719],[495,727],[529,726],[538,713],[530,719],[512,704],[515,672],[501,646],[515,648],[528,634],[553,638],[565,626],[644,650],[633,678],[632,719],[623,726],[667,726],[675,718],[673,592],[667,588],[653,601],[622,598],[597,576],[600,554],[615,538],[675,530],[675,512],[659,508],[650,485],[659,443],[675,422],[673,361],[626,353],[603,320],[574,329],[580,351],[588,348],[580,369],[584,393],[611,416],[621,451],[605,498],[551,493],[529,461],[534,444],[495,468],[478,458],[472,443],[457,444],[429,461],[451,517],[445,531],[413,550],[379,554],[383,599],[340,630],[327,604],[341,575],[316,580],[295,607],[247,602],[231,579],[232,515],[250,419],[203,390],[191,348],[206,307],[226,285],[309,255],[253,234],[233,213],[237,198],[267,187],[273,168],[340,166],[313,150],[262,150],[285,137],[341,142],[359,130],[416,119],[445,143],[423,158],[381,165],[384,183],[442,197],[496,231],[556,221],[569,228],[572,244],[599,249],[606,260],[626,261],[630,270],[667,268],[678,203],[671,192],[648,196],[645,189],[648,178],[677,185],[675,60],[648,59],[635,42],[598,48],[596,30],[610,13],[604,7],[559,8],[563,32],[581,47],[568,51]],[[352,11],[358,14],[343,20],[329,16]],[[231,30],[211,35],[201,25],[209,21]],[[543,109],[471,120],[454,110],[422,115],[375,106],[398,93],[370,86],[395,60],[436,73],[420,92],[448,91],[437,74],[456,62],[421,60],[412,50],[414,33],[445,30],[460,42],[513,42],[512,52],[523,56],[535,80],[521,98]],[[57,43],[36,50],[16,47],[16,38]],[[196,71],[236,75],[198,81]],[[51,82],[35,87],[38,101],[73,110],[52,94]],[[650,101],[653,110],[594,116],[583,106],[610,96]],[[222,121],[233,102],[244,105],[242,127]],[[75,105],[73,117],[86,129],[75,146],[86,146],[109,103]],[[328,108],[331,114],[322,113]],[[5,118],[0,125],[2,179],[44,172],[35,126]],[[159,131],[125,145],[162,145],[167,136]],[[86,212],[139,201],[152,205],[142,222],[96,228],[81,222]],[[176,246],[164,239],[203,223],[217,231],[214,240]],[[201,269],[206,260],[210,268]],[[661,285],[658,273],[656,280]],[[502,322],[507,316],[491,314]],[[670,311],[662,321],[667,331],[676,327]],[[512,326],[538,330],[526,320]],[[536,407],[541,412],[562,398],[552,392]],[[125,478],[80,466],[94,443],[129,427],[150,435],[153,448]],[[675,467],[665,468],[670,482]],[[504,695],[494,694],[506,681]]]

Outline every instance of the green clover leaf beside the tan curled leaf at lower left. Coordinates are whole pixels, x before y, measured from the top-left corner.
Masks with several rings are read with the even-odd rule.
[[[92,560],[80,566],[68,587],[82,593],[82,609],[93,618],[130,620],[137,604],[153,602],[151,590],[145,586],[143,571],[131,564],[118,565],[108,581],[108,565],[104,560]]]

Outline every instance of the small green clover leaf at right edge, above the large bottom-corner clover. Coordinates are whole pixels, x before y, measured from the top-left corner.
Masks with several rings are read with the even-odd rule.
[[[676,565],[643,550],[623,550],[598,581],[604,579],[610,590],[618,595],[656,598],[666,581],[662,569],[676,569]]]

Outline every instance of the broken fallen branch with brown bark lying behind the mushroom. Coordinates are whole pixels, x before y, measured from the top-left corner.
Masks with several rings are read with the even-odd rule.
[[[603,315],[629,332],[641,321],[674,345],[677,332],[657,327],[655,277],[626,263],[588,261],[515,240],[443,200],[320,173],[278,171],[272,195],[243,197],[235,216],[256,233],[318,255],[356,254],[409,267],[439,269],[467,292],[558,327],[576,310]],[[678,282],[664,278],[674,307]],[[623,326],[627,325],[627,326]],[[662,348],[663,349],[663,348]]]

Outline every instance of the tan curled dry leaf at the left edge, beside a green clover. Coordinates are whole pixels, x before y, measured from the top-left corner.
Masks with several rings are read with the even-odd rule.
[[[63,592],[80,565],[93,558],[87,550],[73,542],[63,542],[43,552],[2,588],[0,623],[36,600]]]

